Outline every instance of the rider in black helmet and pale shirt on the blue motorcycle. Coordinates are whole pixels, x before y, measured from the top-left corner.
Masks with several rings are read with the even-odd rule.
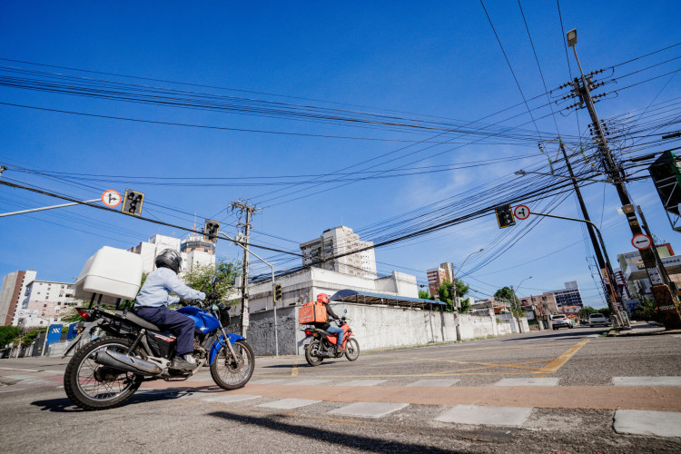
[[[145,321],[151,321],[162,330],[171,331],[177,337],[177,351],[172,369],[191,370],[196,366],[196,360],[192,356],[194,350],[194,322],[180,312],[168,309],[169,304],[180,301],[179,295],[188,300],[205,300],[206,294],[202,291],[193,290],[177,277],[182,265],[182,257],[173,249],[161,252],[154,261],[156,270],[149,273],[144,281],[142,290],[137,294],[134,303],[134,311]],[[217,294],[209,293],[209,299],[214,299]]]

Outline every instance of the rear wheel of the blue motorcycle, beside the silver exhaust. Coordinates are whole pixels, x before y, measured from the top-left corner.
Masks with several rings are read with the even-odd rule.
[[[94,362],[97,350],[125,352],[133,341],[99,338],[76,351],[64,371],[64,390],[69,400],[83,410],[107,410],[133,397],[142,377]]]

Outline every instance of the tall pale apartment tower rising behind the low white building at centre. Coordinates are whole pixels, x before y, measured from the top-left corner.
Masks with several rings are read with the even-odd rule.
[[[342,257],[335,258],[347,252]],[[376,279],[376,257],[373,242],[361,242],[360,235],[352,232],[350,227],[341,225],[335,229],[328,229],[321,233],[321,237],[309,242],[301,243],[302,266],[309,266],[313,262],[316,268],[337,271],[350,276],[361,276]]]

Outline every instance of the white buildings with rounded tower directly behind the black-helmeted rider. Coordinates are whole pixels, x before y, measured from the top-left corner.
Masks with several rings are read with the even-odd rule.
[[[142,271],[152,272],[156,269],[154,260],[163,250],[172,249],[180,252],[183,267],[180,273],[189,272],[196,265],[215,266],[215,244],[203,240],[198,233],[190,233],[184,240],[166,235],[153,235],[147,242],[140,242],[128,251],[142,255]]]

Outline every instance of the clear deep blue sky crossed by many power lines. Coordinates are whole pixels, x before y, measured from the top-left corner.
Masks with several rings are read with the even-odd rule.
[[[242,198],[262,208],[254,218],[252,242],[295,252],[299,252],[296,243],[341,223],[360,232],[362,240],[372,241],[400,236],[400,225],[405,232],[417,230],[415,226],[427,228],[437,223],[435,217],[410,223],[406,213],[428,211],[424,207],[438,201],[461,201],[462,206],[483,203],[475,200],[483,185],[524,184],[522,179],[531,177],[515,175],[520,169],[548,172],[548,155],[555,158],[558,152],[554,141],[558,132],[570,146],[579,142],[580,133],[588,137],[586,109],[560,113],[567,104],[552,104],[556,109],[552,116],[548,106],[539,107],[548,103],[546,96],[539,96],[546,90],[518,3],[485,1],[484,5],[513,73],[485,10],[474,1],[342,5],[4,2],[0,5],[3,81],[6,77],[48,77],[54,82],[68,75],[82,83],[92,79],[115,82],[126,94],[142,89],[140,85],[146,90],[182,90],[183,96],[200,92],[232,96],[224,98],[225,102],[249,107],[267,102],[258,105],[281,108],[287,114],[140,104],[4,83],[0,85],[0,162],[10,170],[3,179],[83,200],[94,199],[105,189],[133,188],[145,193],[144,214],[149,217],[192,227],[196,212],[197,223],[216,217],[222,221],[222,231],[231,235],[236,232],[236,218],[225,208]],[[558,4],[523,1],[521,5],[547,88],[553,90],[577,71],[571,52],[568,69]],[[617,124],[627,127],[660,118],[677,121],[674,100],[681,95],[681,79],[667,73],[679,69],[679,61],[663,62],[679,56],[681,47],[622,64],[681,41],[676,2],[653,2],[646,7],[633,1],[561,2],[560,11],[564,30],[577,28],[577,52],[586,72],[617,65],[599,79],[610,82],[596,92],[609,93],[596,104],[601,119],[617,117]],[[652,65],[656,66],[617,79]],[[662,76],[649,80],[658,75]],[[627,87],[636,83],[640,84]],[[550,101],[566,93],[554,91],[551,96],[558,98]],[[523,95],[533,109],[534,123]],[[323,119],[311,122],[309,117],[291,116],[293,111],[301,112],[302,106],[311,106]],[[652,116],[655,113],[660,116]],[[380,118],[383,123],[400,125],[331,121],[335,115]],[[388,116],[392,122],[386,121]],[[481,136],[470,133],[474,129],[470,122],[483,118],[487,125],[474,126],[485,131],[503,126],[513,137],[486,136],[481,143],[473,143]],[[403,126],[426,121],[429,127],[438,125],[433,129]],[[445,131],[464,125],[468,133]],[[623,143],[656,141],[662,133],[678,129],[671,122],[641,133],[657,133],[655,137],[628,136]],[[438,141],[449,143],[433,143]],[[548,155],[539,153],[540,141]],[[666,142],[653,143],[637,153],[677,146]],[[627,153],[623,147],[618,151]],[[576,155],[575,160],[579,159]],[[368,160],[373,161],[360,164]],[[471,162],[483,165],[462,168]],[[395,169],[402,166],[400,171],[408,174],[381,178],[399,173]],[[331,174],[342,169],[347,169],[342,171],[346,173],[343,178],[360,181],[329,183],[339,178]],[[355,173],[362,170],[376,173]],[[64,177],[57,173],[79,175],[69,175],[72,180],[66,182],[55,178]],[[91,177],[84,174],[112,176],[85,180]],[[291,176],[297,177],[282,178]],[[190,184],[169,185],[180,181],[152,181],[151,177],[184,177],[182,183]],[[208,178],[242,180],[200,180]],[[287,185],[311,179],[316,179],[315,185]],[[198,185],[226,182],[277,185]],[[656,235],[671,242],[675,250],[681,248],[650,180],[630,183],[628,188]],[[279,192],[268,194],[272,191]],[[615,262],[617,253],[632,249],[631,232],[624,217],[617,214],[615,188],[595,183],[583,192]],[[55,203],[59,201],[0,187],[0,212]],[[530,206],[580,217],[571,194]],[[456,217],[456,208],[442,209],[439,221]],[[485,248],[490,253],[470,256],[459,271],[478,291],[476,297],[517,286],[532,276],[523,282],[520,294],[550,291],[562,288],[566,281],[577,281],[588,304],[605,304],[597,289],[593,260],[588,259],[590,245],[577,222],[546,219],[535,221],[531,229],[529,222],[518,222],[513,232],[502,232],[491,211],[472,218],[377,249],[379,271],[409,272],[425,283],[427,269],[440,262],[458,266],[470,252]],[[394,221],[390,227],[387,220]],[[69,281],[103,245],[128,248],[155,233],[182,232],[87,207],[1,218],[0,274],[34,269],[39,279]],[[513,235],[515,240],[511,240]],[[228,259],[240,255],[228,242],[219,242],[217,251]],[[300,264],[273,258],[279,269]],[[255,273],[262,271],[253,267]]]

